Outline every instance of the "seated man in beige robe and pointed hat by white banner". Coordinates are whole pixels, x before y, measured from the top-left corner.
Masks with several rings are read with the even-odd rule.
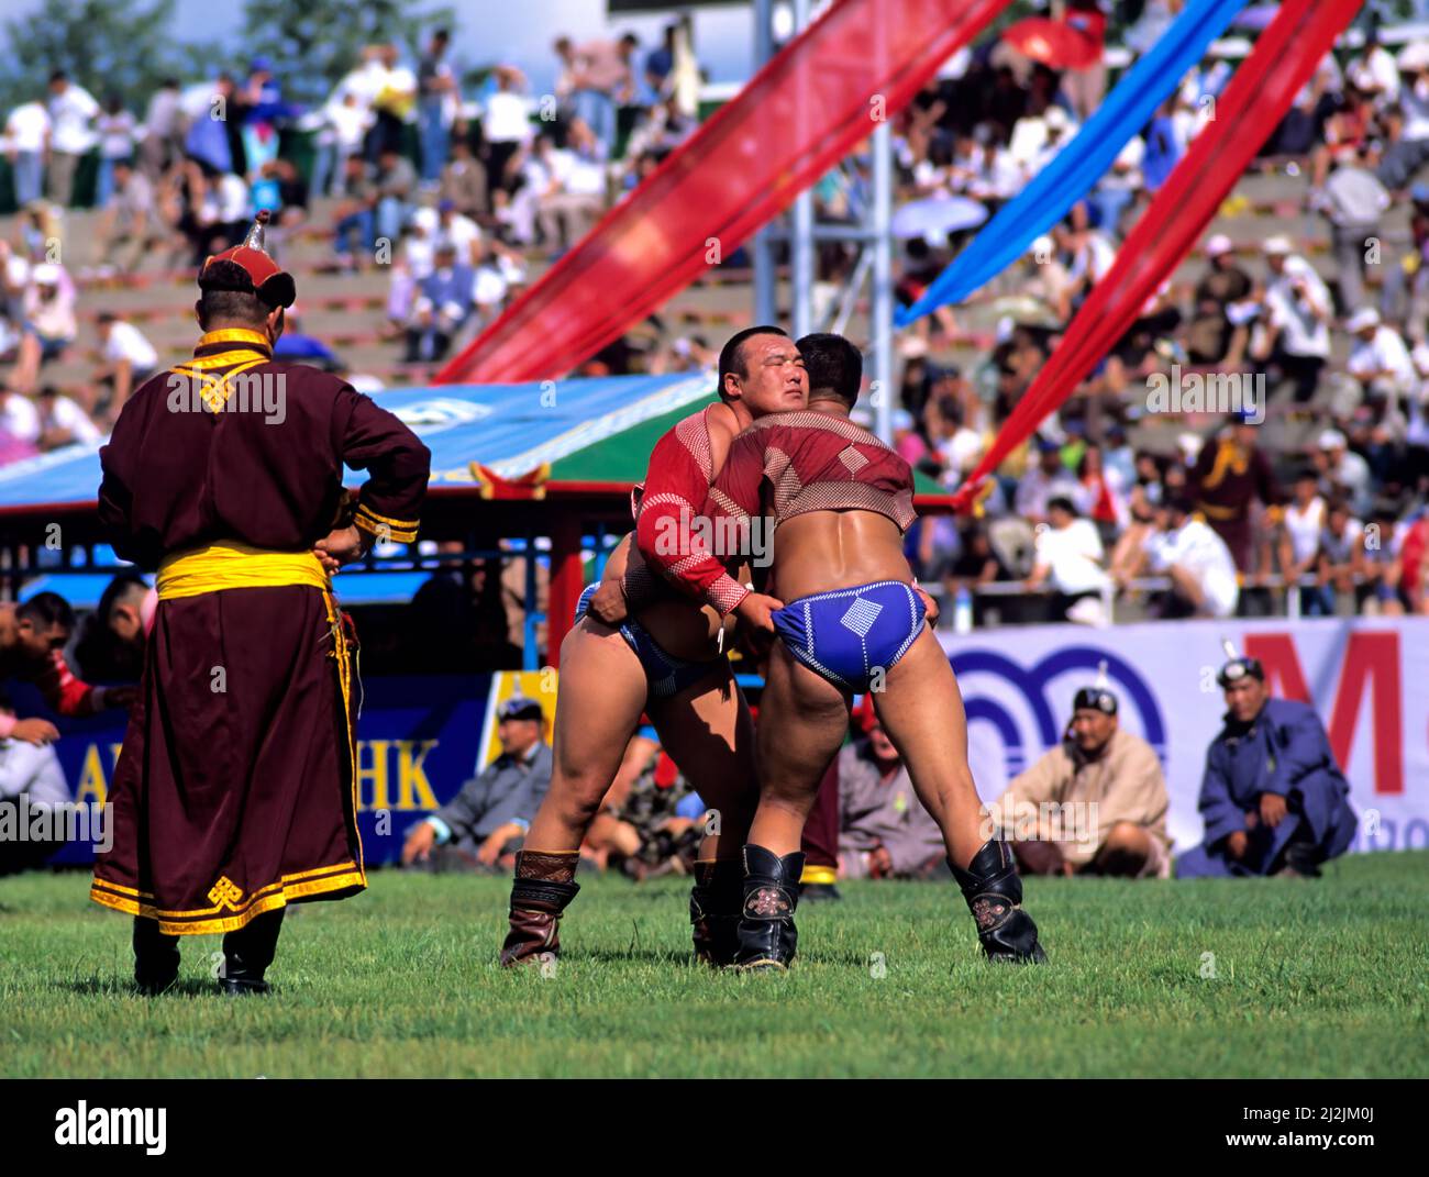
[[[989,806],[1025,874],[1170,877],[1160,761],[1116,711],[1105,686],[1079,690],[1062,744]]]

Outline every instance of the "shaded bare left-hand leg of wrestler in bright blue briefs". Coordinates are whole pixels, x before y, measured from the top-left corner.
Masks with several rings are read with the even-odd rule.
[[[780,857],[799,848],[819,781],[849,733],[849,703],[847,694],[775,643],[759,700],[760,788],[752,843]]]

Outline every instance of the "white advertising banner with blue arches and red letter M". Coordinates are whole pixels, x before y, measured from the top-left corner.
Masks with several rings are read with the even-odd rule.
[[[1359,814],[1353,850],[1429,847],[1429,617],[1027,626],[942,634],[967,707],[985,801],[1047,748],[1100,661],[1120,721],[1160,756],[1177,853],[1198,844],[1206,748],[1225,700],[1222,640],[1260,658],[1272,694],[1312,703]]]

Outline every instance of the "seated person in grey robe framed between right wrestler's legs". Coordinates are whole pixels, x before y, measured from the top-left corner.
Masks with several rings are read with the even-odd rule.
[[[839,874],[913,878],[947,873],[943,834],[913,793],[893,741],[863,696],[863,738],[839,751]]]

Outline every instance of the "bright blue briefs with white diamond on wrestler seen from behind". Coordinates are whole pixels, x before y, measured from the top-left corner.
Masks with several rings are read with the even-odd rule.
[[[835,588],[790,601],[773,614],[789,653],[853,694],[887,673],[923,628],[923,598],[899,580]]]

